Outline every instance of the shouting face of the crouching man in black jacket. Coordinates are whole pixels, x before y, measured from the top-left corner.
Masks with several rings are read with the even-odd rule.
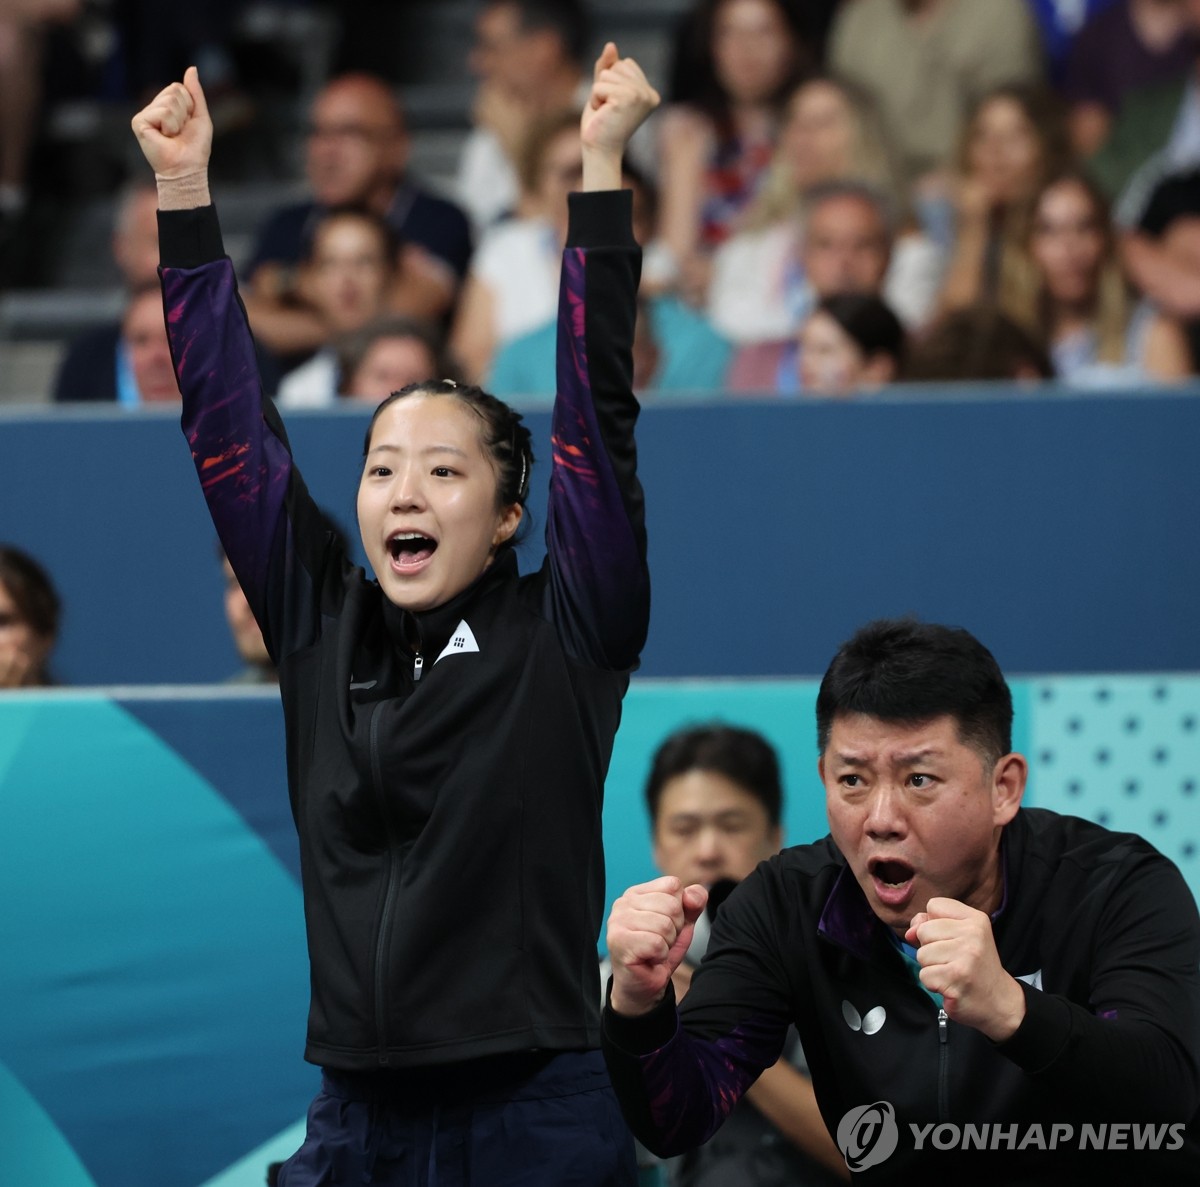
[[[949,715],[913,725],[844,714],[818,771],[833,839],[889,928],[902,936],[931,898],[1000,906],[1000,834],[1025,790],[1020,755],[992,765]]]

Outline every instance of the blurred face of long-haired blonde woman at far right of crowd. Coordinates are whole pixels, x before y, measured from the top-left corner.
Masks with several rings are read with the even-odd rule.
[[[1093,300],[1106,246],[1100,211],[1078,181],[1060,181],[1042,194],[1030,248],[1051,300]]]

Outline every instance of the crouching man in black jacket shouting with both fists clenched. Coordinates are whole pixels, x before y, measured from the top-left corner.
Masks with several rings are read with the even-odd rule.
[[[707,1140],[794,1023],[864,1181],[1200,1182],[1195,901],[1141,838],[1021,808],[1012,718],[970,634],[872,623],[817,697],[829,837],[740,883],[679,1011],[704,889],[617,900],[605,1055],[650,1150]]]

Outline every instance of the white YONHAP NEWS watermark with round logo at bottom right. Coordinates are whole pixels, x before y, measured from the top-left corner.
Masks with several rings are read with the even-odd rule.
[[[1187,1126],[1182,1121],[965,1122],[952,1121],[906,1126],[914,1150],[1182,1150]],[[888,1101],[851,1109],[838,1123],[838,1147],[851,1170],[877,1167],[900,1144],[901,1127]]]

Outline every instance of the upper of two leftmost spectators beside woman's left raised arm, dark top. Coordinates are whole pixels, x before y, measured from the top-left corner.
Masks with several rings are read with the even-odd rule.
[[[113,259],[130,292],[158,283],[157,211],[158,193],[152,181],[132,181],[116,199]],[[116,400],[120,374],[128,374],[120,323],[85,330],[71,342],[59,365],[54,400]]]

